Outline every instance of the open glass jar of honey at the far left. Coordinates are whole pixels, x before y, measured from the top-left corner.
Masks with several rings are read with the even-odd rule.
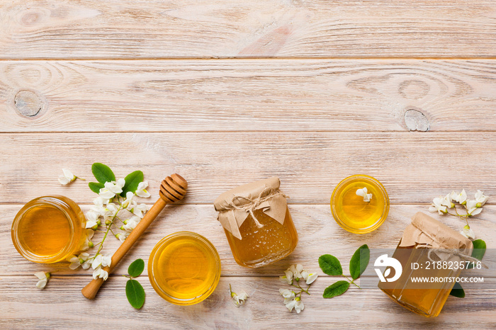
[[[28,202],[12,223],[17,251],[29,261],[55,263],[76,254],[86,240],[86,218],[79,206],[60,195]]]

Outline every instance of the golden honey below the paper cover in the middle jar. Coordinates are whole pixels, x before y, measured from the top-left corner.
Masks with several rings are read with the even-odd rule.
[[[249,215],[239,227],[242,239],[224,229],[235,261],[245,267],[260,267],[291,254],[298,244],[298,234],[288,207],[283,224],[262,210],[255,210],[254,215],[263,227],[257,227]]]

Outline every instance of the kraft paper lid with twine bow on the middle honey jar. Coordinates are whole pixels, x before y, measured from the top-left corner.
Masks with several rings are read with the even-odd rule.
[[[286,196],[279,191],[280,184],[279,178],[273,176],[222,193],[213,203],[222,227],[237,239],[242,239],[239,227],[254,210],[262,210],[283,224],[287,203]]]

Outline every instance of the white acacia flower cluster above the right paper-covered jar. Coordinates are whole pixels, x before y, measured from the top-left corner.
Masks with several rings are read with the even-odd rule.
[[[461,190],[461,192],[452,191],[446,196],[439,196],[432,200],[432,204],[429,207],[430,212],[438,212],[439,215],[453,215],[455,217],[460,217],[460,219],[466,221],[466,225],[463,227],[463,230],[460,232],[463,236],[468,239],[474,240],[475,233],[472,229],[470,229],[470,225],[468,224],[468,217],[473,217],[474,215],[478,215],[483,210],[483,205],[489,199],[488,196],[484,195],[484,193],[480,190],[477,190],[473,199],[469,199],[467,197],[467,193],[465,189]],[[461,205],[465,209],[465,213],[458,212],[456,205]],[[452,210],[454,213],[450,212]]]

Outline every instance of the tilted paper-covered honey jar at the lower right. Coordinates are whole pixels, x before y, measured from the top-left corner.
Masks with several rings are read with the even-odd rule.
[[[393,254],[393,258],[402,264],[400,278],[380,282],[378,287],[402,307],[425,317],[436,317],[455,282],[433,283],[429,280],[419,283],[412,278],[457,278],[462,264],[473,259],[470,257],[472,249],[470,239],[418,212]],[[417,266],[412,266],[414,264]]]

